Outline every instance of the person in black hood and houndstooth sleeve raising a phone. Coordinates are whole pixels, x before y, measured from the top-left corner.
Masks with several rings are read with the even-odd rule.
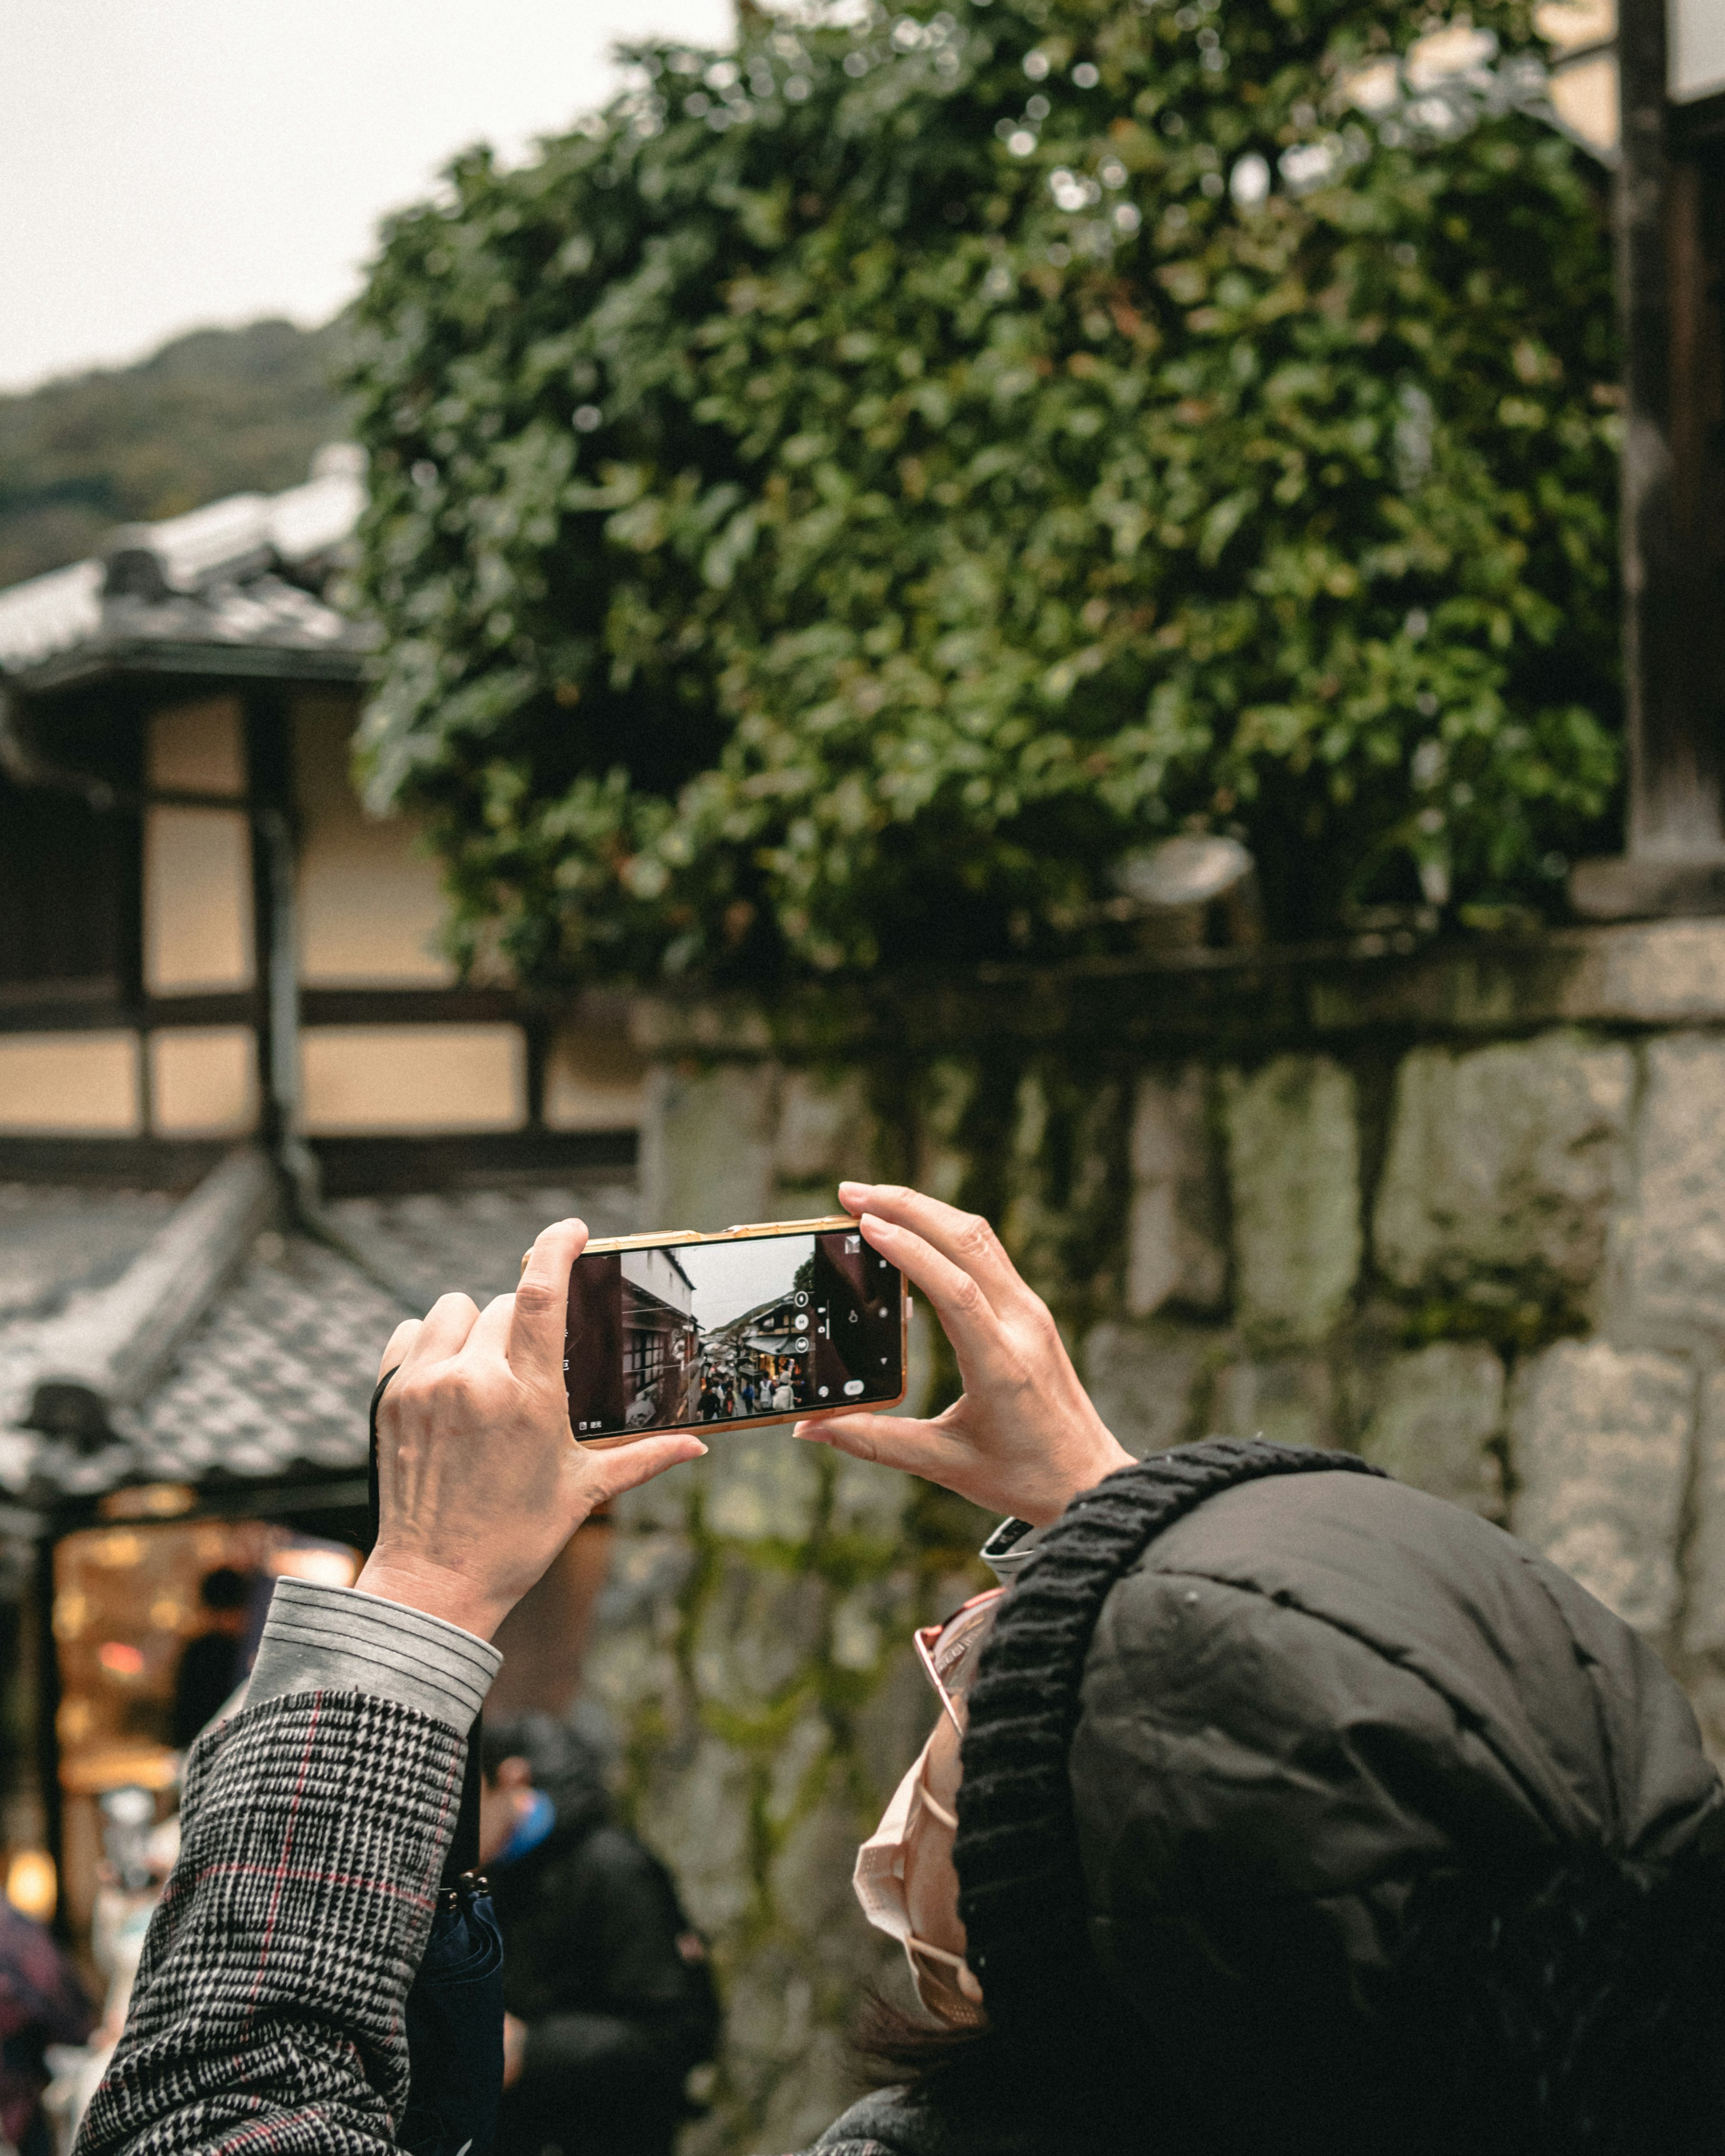
[[[1009,1516],[919,1634],[929,1738],[856,1858],[923,2014],[824,2156],[1699,2156],[1725,2128],[1725,1789],[1654,1654],[1346,1453],[1134,1462],[992,1229],[841,1186],[962,1397],[809,1442]],[[282,1583],[80,2156],[392,2147],[403,1996],[505,1613],[703,1449],[569,1436],[580,1222],[397,1330],[358,1589]],[[474,2152],[479,2156],[479,2152]]]

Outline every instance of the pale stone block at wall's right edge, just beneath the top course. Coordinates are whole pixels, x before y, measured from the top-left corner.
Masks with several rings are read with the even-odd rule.
[[[1634,1197],[1613,1238],[1613,1337],[1688,1345],[1725,1337],[1725,1041],[1647,1048]]]

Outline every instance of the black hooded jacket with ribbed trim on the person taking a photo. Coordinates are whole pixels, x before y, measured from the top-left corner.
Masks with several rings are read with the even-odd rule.
[[[1555,1565],[1358,1460],[1210,1440],[1074,1501],[983,1649],[957,1818],[992,2035],[869,2139],[1725,2147],[1688,1701]]]

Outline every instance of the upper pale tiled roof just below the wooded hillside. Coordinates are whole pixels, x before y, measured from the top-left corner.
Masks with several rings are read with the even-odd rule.
[[[364,507],[360,453],[319,451],[282,494],[233,494],[162,524],[112,533],[99,561],[0,591],[0,673],[75,651],[218,645],[354,653],[369,634],[315,597]]]

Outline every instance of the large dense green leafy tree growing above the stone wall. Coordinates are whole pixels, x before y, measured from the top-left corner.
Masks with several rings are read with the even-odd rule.
[[[397,218],[367,759],[468,949],[1095,949],[1177,828],[1246,837],[1283,936],[1550,893],[1617,772],[1602,198],[1518,110],[1369,123],[1421,28],[746,15]]]

